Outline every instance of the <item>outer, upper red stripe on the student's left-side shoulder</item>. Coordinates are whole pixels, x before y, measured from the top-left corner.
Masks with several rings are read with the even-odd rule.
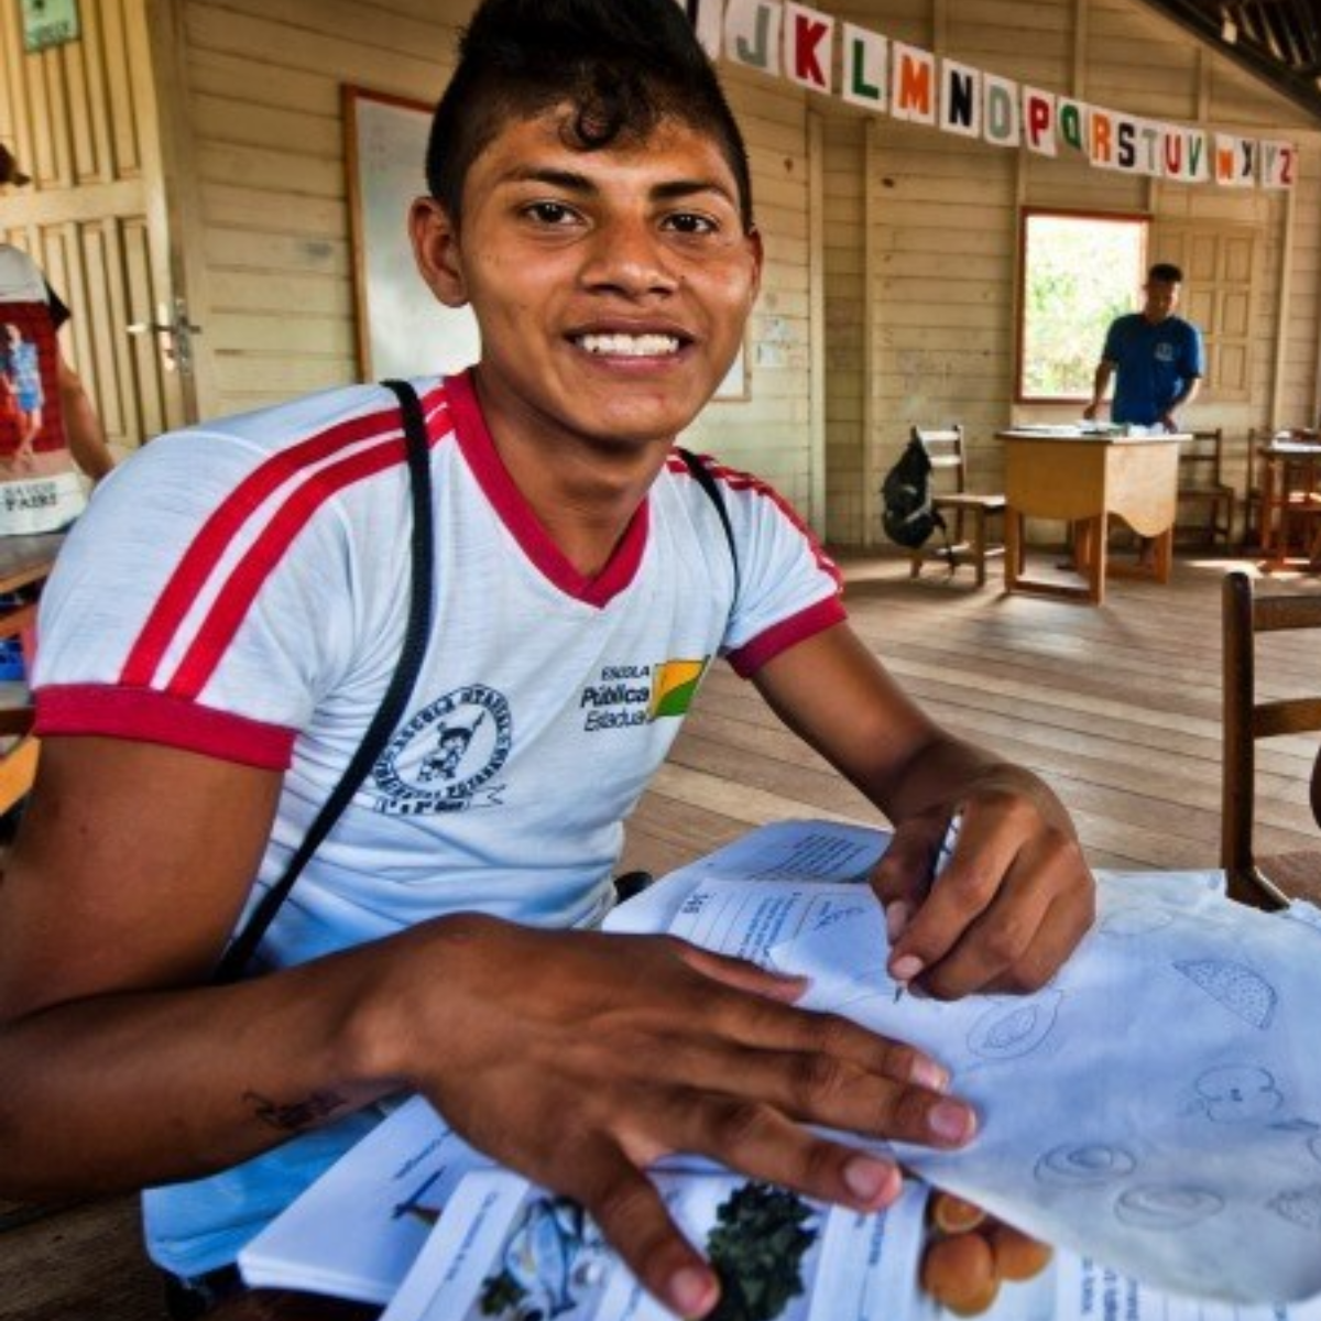
[[[439,440],[436,420],[445,416],[444,402],[443,386],[429,391],[421,400],[432,445]],[[306,469],[325,462],[343,446],[369,440],[382,432],[388,433],[391,428],[398,428],[398,412],[394,408],[376,410],[272,454],[250,473],[207,518],[184,552],[128,653],[120,683],[125,687],[143,688],[152,683],[170,641],[234,538],[280,486],[293,481]],[[444,431],[440,435],[444,435]],[[403,441],[396,439],[392,448],[395,460],[403,462]],[[309,509],[306,513],[310,511]]]

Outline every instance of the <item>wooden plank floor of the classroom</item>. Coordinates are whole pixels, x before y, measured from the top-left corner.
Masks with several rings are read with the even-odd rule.
[[[1244,561],[1247,563],[1247,561]],[[908,561],[844,564],[855,627],[950,729],[1037,771],[1073,811],[1094,867],[1217,865],[1219,580],[1227,561],[1184,557],[1168,587],[1116,581],[1104,606],[1007,597]],[[1321,589],[1280,575],[1267,589]],[[1281,635],[1259,660],[1263,692],[1316,691],[1314,641]],[[1313,847],[1314,741],[1259,757],[1260,847]],[[786,816],[877,818],[720,666],[629,830],[627,867],[662,873],[752,826]],[[53,1135],[53,1140],[58,1140]],[[131,1199],[0,1235],[0,1321],[155,1321],[155,1280]]]

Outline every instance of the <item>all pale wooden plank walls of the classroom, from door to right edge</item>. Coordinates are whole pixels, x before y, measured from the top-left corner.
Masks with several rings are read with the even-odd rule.
[[[189,242],[203,268],[192,291],[207,359],[199,411],[353,380],[339,86],[433,99],[468,0],[176,3],[199,210]],[[1012,407],[1020,205],[1151,210],[1262,235],[1252,398],[1230,407],[1209,395],[1190,416],[1227,427],[1246,483],[1248,427],[1309,417],[1318,398],[1321,133],[1301,132],[1300,112],[1136,0],[851,0],[836,12],[1116,110],[1301,139],[1303,186],[1291,205],[1255,189],[1153,185],[884,116],[864,129],[836,99],[727,63],[769,260],[749,345],[752,399],[715,404],[690,443],[807,510],[820,480],[812,404],[824,396],[828,489],[824,517],[811,513],[839,544],[876,539],[875,487],[913,421],[962,420],[974,480],[995,485],[992,432]],[[811,159],[810,115],[824,120],[824,161]],[[814,165],[826,177],[824,380],[811,373]]]

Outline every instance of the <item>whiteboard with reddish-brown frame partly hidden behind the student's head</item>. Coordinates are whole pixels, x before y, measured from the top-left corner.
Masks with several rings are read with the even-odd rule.
[[[470,308],[437,303],[413,264],[408,207],[427,192],[432,107],[343,86],[358,370],[363,380],[458,371],[477,361]]]

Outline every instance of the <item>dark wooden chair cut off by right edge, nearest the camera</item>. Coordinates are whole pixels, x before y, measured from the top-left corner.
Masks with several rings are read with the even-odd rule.
[[[1256,691],[1256,635],[1314,629],[1321,647],[1321,592],[1258,596],[1240,569],[1225,576],[1225,762],[1221,865],[1232,898],[1279,908],[1289,897],[1321,901],[1321,841],[1314,851],[1258,857],[1252,845],[1256,740],[1321,731],[1321,675],[1313,696],[1262,697]],[[1321,826],[1321,750],[1312,771],[1312,812]]]

